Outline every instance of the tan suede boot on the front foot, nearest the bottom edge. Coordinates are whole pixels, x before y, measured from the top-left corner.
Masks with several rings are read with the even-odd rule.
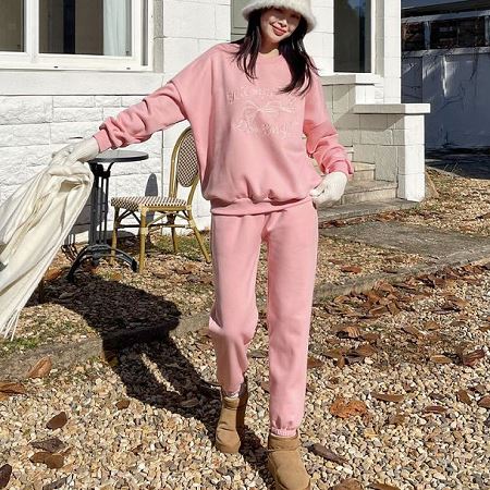
[[[275,490],[309,490],[310,479],[299,453],[299,434],[291,438],[269,432],[267,467],[274,478]]]

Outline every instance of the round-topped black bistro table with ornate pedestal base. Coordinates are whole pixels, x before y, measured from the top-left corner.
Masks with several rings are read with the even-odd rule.
[[[114,254],[114,257],[127,262],[132,270],[138,270],[138,262],[118,248],[112,248],[107,244],[107,218],[109,213],[109,179],[111,176],[111,167],[114,163],[124,163],[131,161],[147,160],[148,154],[133,150],[106,150],[99,154],[87,163],[90,166],[94,174],[94,185],[90,194],[90,223],[88,229],[88,245],[79,250],[76,256],[66,279],[74,281],[75,270],[83,261],[91,259],[94,266],[98,266],[101,257]],[[103,163],[109,163],[107,168]]]

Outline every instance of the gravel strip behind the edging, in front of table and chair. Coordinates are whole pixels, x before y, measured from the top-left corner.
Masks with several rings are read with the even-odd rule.
[[[206,240],[207,240],[207,235]],[[212,266],[199,256],[193,237],[182,237],[182,254],[173,255],[168,237],[156,241],[147,267],[135,274],[125,266],[106,262],[77,272],[76,284],[66,280],[70,260],[60,252],[47,282],[45,297],[34,294],[23,309],[14,342],[0,340],[0,357],[14,351],[52,342],[72,343],[95,335],[137,327],[158,328],[161,319],[209,311],[213,301]],[[209,246],[209,245],[208,245]],[[134,242],[124,246],[136,255]],[[346,258],[347,257],[347,258]],[[383,270],[424,264],[411,254],[321,237],[317,284],[345,284]],[[344,267],[358,267],[343,271]],[[262,244],[257,271],[257,297],[267,296],[267,248]],[[126,308],[126,305],[133,305]]]

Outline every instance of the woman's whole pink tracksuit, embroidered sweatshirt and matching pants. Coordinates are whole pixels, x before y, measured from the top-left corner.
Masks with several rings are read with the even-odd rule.
[[[255,281],[260,243],[268,250],[270,426],[292,436],[304,415],[306,359],[317,262],[318,217],[309,196],[323,173],[353,167],[327,113],[314,74],[305,96],[278,94],[291,82],[284,57],[258,56],[248,79],[221,42],[164,86],[108,118],[94,137],[100,151],[148,139],[187,120],[203,196],[211,204],[215,304],[209,329],[217,377],[236,391],[257,326]],[[306,145],[303,140],[306,136]]]

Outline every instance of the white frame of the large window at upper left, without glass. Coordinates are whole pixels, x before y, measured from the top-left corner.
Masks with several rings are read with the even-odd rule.
[[[131,57],[49,54],[39,53],[39,0],[24,0],[25,51],[0,51],[0,70],[152,71],[152,0],[133,0],[131,5]]]

